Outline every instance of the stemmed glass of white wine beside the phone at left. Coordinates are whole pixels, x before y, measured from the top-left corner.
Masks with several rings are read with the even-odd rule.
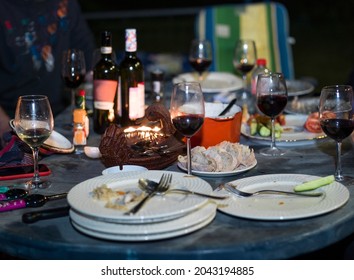
[[[29,189],[47,188],[50,181],[39,176],[39,148],[53,131],[54,119],[48,97],[45,95],[20,96],[15,112],[14,127],[22,141],[30,146],[33,153],[34,175],[26,185]]]

